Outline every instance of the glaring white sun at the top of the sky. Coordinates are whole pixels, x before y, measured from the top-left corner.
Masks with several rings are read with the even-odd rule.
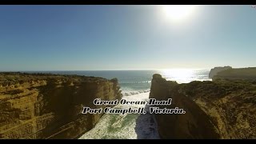
[[[170,18],[174,22],[180,22],[187,18],[196,10],[193,5],[165,5],[162,7],[166,18]]]

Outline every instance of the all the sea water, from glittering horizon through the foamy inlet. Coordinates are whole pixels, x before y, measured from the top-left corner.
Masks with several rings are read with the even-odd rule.
[[[36,72],[36,71],[34,71]],[[42,73],[42,71],[37,71]],[[43,71],[51,74],[78,74],[102,78],[118,78],[124,99],[128,101],[148,101],[153,74],[161,74],[166,80],[178,83],[210,81],[210,69],[170,69],[170,70],[78,70]],[[138,108],[145,105],[117,105],[114,108]],[[104,114],[94,128],[79,139],[158,139],[158,126],[154,114]]]

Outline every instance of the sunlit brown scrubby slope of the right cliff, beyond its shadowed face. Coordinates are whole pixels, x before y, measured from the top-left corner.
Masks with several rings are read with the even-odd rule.
[[[244,80],[180,85],[212,118],[221,138],[256,138],[256,83]]]

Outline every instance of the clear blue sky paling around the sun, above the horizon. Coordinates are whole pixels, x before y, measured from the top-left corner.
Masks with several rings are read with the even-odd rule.
[[[0,71],[256,66],[256,8],[162,7],[0,6]]]

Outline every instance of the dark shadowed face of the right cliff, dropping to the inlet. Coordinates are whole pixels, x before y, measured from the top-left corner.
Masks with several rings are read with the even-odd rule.
[[[166,100],[172,98],[168,109],[179,107],[186,114],[155,114],[161,138],[219,138],[212,119],[201,108],[178,90],[178,83],[166,81],[159,74],[154,74],[150,98]]]

